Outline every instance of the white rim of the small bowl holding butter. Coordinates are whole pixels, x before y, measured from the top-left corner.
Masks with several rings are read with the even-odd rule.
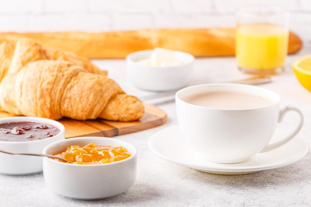
[[[151,55],[152,52],[153,52],[153,50],[137,51],[137,52],[134,52],[134,53],[131,53],[131,54],[127,55],[125,59],[126,59],[126,61],[129,61],[131,63],[138,64],[140,66],[144,66],[144,67],[150,68],[150,69],[159,69],[159,68],[161,68],[161,69],[163,69],[163,68],[165,68],[165,69],[166,68],[167,69],[174,69],[174,68],[178,68],[180,66],[190,65],[190,64],[192,64],[194,62],[194,59],[195,59],[194,56],[191,55],[190,53],[185,53],[185,52],[182,52],[182,51],[174,51],[174,53],[181,54],[181,55],[184,55],[184,56],[188,56],[190,60],[186,61],[184,64],[179,65],[179,66],[146,66],[146,65],[142,65],[142,64],[137,63],[137,60],[133,60],[133,58],[136,57],[137,55],[140,55],[142,53],[146,53],[146,54],[150,53],[150,55]],[[148,58],[148,57],[150,57],[150,56],[146,56],[145,58]]]

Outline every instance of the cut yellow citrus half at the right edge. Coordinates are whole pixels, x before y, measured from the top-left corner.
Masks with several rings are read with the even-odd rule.
[[[299,82],[311,91],[311,55],[297,59],[293,63],[293,70]]]

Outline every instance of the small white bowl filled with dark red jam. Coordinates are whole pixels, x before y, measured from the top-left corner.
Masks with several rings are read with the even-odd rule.
[[[0,119],[0,147],[21,152],[42,153],[45,146],[65,139],[64,126],[38,117]],[[42,171],[42,158],[0,153],[0,173],[27,175]]]

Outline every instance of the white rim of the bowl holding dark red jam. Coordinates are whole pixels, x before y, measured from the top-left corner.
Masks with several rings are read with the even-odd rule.
[[[23,144],[23,143],[34,143],[34,142],[39,142],[39,141],[45,141],[48,139],[52,139],[55,138],[56,136],[60,136],[61,134],[65,133],[65,127],[63,124],[61,124],[58,121],[52,120],[52,119],[47,119],[47,118],[42,118],[42,117],[7,117],[7,118],[0,118],[0,121],[5,120],[5,122],[0,123],[0,124],[4,124],[7,122],[35,122],[38,124],[48,124],[51,125],[53,127],[56,127],[57,129],[60,130],[60,132],[50,138],[44,138],[44,139],[38,139],[38,140],[30,140],[30,141],[0,141],[0,143],[11,143],[11,144]],[[7,121],[6,121],[7,120]],[[9,120],[13,120],[13,121],[9,121]],[[18,121],[20,120],[20,121]],[[38,120],[38,121],[34,121],[34,120]],[[53,124],[49,124],[47,122],[52,122]]]

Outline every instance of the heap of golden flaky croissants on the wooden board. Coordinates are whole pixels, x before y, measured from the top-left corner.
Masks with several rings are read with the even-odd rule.
[[[87,58],[31,39],[0,45],[0,109],[13,115],[133,121],[142,102]]]

